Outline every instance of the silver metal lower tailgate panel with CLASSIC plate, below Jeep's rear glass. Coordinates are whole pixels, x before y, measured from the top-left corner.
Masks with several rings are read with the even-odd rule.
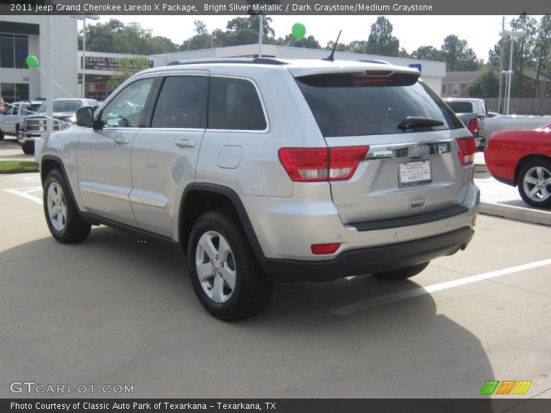
[[[461,204],[471,169],[463,167],[449,131],[384,136],[326,138],[329,147],[369,146],[349,180],[331,181],[333,202],[343,223],[366,222],[427,213]],[[379,142],[377,142],[377,140]],[[375,142],[375,145],[373,145]],[[390,143],[392,142],[392,143]]]

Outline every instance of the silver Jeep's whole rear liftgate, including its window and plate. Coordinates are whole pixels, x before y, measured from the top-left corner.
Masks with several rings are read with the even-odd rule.
[[[335,166],[337,178],[329,178],[342,222],[400,218],[463,202],[472,167],[462,165],[457,138],[472,137],[417,76],[382,67],[296,78],[330,148],[330,164],[348,168]],[[337,156],[347,147],[367,154],[345,165]]]

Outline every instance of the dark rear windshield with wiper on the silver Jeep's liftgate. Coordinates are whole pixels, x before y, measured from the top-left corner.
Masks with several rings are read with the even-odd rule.
[[[359,72],[302,76],[296,80],[323,136],[400,134],[462,127],[440,98],[417,81],[417,75],[377,78]],[[398,125],[408,116],[440,120],[444,125],[402,131]]]

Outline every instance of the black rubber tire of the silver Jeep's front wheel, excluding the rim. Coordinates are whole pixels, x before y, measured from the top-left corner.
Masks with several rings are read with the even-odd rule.
[[[51,200],[48,199],[48,191],[50,186],[56,184],[54,189],[58,189],[56,192],[59,195],[59,204],[65,207],[65,220],[63,227],[56,228],[56,224],[50,218],[50,213],[48,213],[48,206]],[[61,187],[61,193],[59,193],[59,188]],[[91,225],[84,222],[79,215],[79,211],[76,209],[69,188],[67,187],[67,182],[63,173],[59,169],[52,169],[48,172],[48,176],[44,180],[44,191],[43,191],[43,206],[44,206],[44,216],[46,218],[46,223],[48,224],[48,229],[50,233],[54,236],[56,240],[63,244],[73,244],[74,242],[81,242],[90,234]],[[57,216],[57,215],[56,215]]]

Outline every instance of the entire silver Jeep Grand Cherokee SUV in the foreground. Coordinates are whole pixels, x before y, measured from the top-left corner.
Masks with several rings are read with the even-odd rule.
[[[470,242],[475,141],[384,63],[178,62],[129,78],[41,152],[59,242],[90,225],[181,244],[205,308],[258,313],[273,282],[404,279]]]

